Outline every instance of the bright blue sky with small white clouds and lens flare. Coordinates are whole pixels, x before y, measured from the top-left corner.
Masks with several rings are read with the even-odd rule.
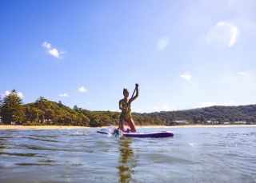
[[[256,104],[254,0],[0,0],[0,93],[140,113]]]

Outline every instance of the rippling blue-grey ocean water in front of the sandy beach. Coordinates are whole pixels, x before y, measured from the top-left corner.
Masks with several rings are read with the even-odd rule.
[[[256,182],[256,127],[0,130],[0,182]]]

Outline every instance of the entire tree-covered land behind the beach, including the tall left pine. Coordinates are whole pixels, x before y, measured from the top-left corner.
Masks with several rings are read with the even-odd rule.
[[[90,111],[74,105],[71,109],[61,101],[48,101],[39,97],[36,101],[23,104],[16,90],[1,99],[0,117],[2,124],[21,125],[82,125],[102,126],[118,125],[118,112]],[[256,105],[212,106],[201,109],[189,109],[160,113],[133,113],[136,125],[176,125],[177,121],[190,124],[208,124],[207,121],[224,122],[247,121],[256,122]]]

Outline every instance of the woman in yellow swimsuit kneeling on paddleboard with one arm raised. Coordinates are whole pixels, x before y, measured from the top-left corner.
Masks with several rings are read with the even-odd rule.
[[[130,129],[127,129],[127,132],[129,131],[136,132],[134,121],[131,118],[130,103],[138,97],[138,84],[136,84],[135,90],[136,90],[135,96],[131,97],[130,99],[128,99],[129,90],[123,89],[122,91],[124,98],[119,101],[119,109],[122,110],[122,113],[120,115],[120,121],[123,119],[123,121],[121,121],[121,126],[120,126],[120,130],[122,131],[124,131],[124,122],[126,122],[126,124],[130,127]]]

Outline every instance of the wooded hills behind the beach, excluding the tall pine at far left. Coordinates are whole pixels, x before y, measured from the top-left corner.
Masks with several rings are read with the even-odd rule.
[[[26,109],[29,107],[38,109],[39,116],[42,111],[41,119],[46,123],[50,119],[50,122],[56,125],[118,125],[120,115],[118,112],[90,111],[78,107],[70,109],[66,105],[48,101],[45,98],[26,104]],[[181,121],[190,124],[223,124],[238,123],[238,121],[250,124],[256,121],[256,105],[211,106],[160,113],[133,113],[133,118],[137,125],[176,125],[182,123]]]

